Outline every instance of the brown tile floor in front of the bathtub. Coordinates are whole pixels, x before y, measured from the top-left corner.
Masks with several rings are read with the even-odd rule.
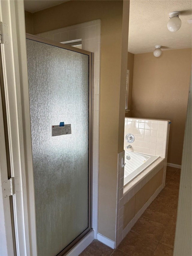
[[[167,167],[164,189],[115,250],[94,240],[80,256],[172,256],[180,171]]]

